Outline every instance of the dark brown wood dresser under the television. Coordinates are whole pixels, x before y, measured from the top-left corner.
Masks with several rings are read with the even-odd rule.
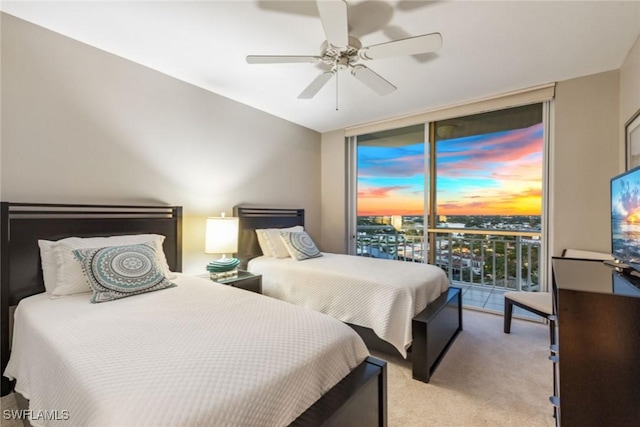
[[[556,424],[640,426],[640,278],[570,258],[553,275]]]

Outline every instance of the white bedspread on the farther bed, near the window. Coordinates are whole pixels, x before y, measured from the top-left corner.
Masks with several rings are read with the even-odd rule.
[[[411,320],[449,288],[432,265],[331,253],[304,261],[262,256],[248,269],[262,274],[265,295],[370,328],[403,357]]]

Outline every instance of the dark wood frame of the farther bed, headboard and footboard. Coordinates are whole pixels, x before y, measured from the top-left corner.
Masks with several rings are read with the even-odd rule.
[[[236,256],[240,259],[241,268],[245,269],[252,258],[262,255],[256,229],[304,226],[304,209],[241,205],[233,208],[233,214],[240,221]],[[370,349],[400,356],[391,344],[380,339],[370,328],[348,325]],[[413,378],[428,383],[461,331],[462,292],[459,288],[450,287],[413,318],[413,344],[409,349]]]

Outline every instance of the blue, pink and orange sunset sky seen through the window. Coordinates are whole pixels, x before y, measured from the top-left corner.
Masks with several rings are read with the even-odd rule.
[[[542,124],[438,142],[437,215],[540,215]],[[424,144],[358,147],[358,215],[422,215]]]

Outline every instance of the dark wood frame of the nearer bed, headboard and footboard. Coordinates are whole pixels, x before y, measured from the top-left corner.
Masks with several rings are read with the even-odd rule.
[[[11,308],[45,291],[38,240],[154,233],[166,236],[171,271],[182,271],[182,207],[0,203],[0,359],[9,362]],[[292,425],[387,425],[387,371],[368,358]],[[13,390],[2,377],[2,396]]]

